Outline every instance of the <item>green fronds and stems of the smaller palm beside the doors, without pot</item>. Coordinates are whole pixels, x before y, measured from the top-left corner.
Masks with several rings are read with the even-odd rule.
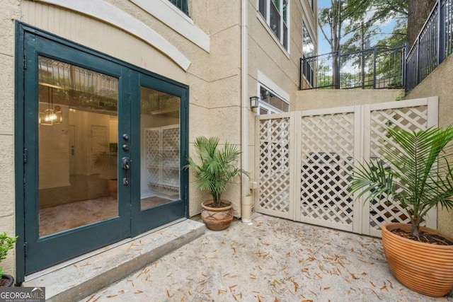
[[[222,149],[218,148],[219,138],[197,137],[194,146],[200,164],[195,163],[193,158],[188,156],[188,164],[185,169],[192,168],[195,170],[195,184],[200,190],[208,190],[212,195],[214,202],[212,207],[221,207],[221,196],[226,185],[236,177],[236,175],[247,175],[248,172],[242,168],[237,168],[235,163],[241,152],[236,146],[225,142]]]

